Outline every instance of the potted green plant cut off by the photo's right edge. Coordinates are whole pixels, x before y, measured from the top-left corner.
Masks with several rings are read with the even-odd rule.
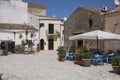
[[[117,56],[112,62],[112,68],[114,73],[120,73],[120,56]]]

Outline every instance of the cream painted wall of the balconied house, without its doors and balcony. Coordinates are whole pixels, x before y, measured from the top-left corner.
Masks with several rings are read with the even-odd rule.
[[[52,20],[52,19],[41,19],[40,23],[44,23],[44,26],[40,28],[40,39],[44,39],[44,42],[46,43],[44,45],[44,49],[48,50],[48,28],[49,24],[54,24],[54,33],[56,34],[56,31],[60,32],[61,30],[61,20]],[[54,41],[54,50],[56,50],[60,46],[60,37],[57,38],[56,41]]]

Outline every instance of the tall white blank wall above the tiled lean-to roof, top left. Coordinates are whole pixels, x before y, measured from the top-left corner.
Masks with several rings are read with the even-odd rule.
[[[0,23],[28,23],[27,3],[21,0],[0,1]]]

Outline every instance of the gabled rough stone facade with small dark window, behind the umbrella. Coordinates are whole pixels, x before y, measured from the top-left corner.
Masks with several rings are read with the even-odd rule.
[[[69,37],[84,32],[103,29],[103,18],[100,16],[100,9],[78,7],[65,22],[65,46],[75,46],[75,41]],[[89,43],[91,44],[91,42]]]

